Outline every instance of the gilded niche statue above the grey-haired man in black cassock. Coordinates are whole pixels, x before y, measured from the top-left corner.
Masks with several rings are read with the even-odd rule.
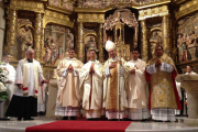
[[[31,32],[29,25],[25,25],[24,28],[21,28],[19,30],[18,41],[19,41],[19,44],[21,45],[21,51],[22,51],[21,57],[24,58],[25,57],[25,51],[29,47],[33,46],[33,36],[32,36],[32,32]]]

